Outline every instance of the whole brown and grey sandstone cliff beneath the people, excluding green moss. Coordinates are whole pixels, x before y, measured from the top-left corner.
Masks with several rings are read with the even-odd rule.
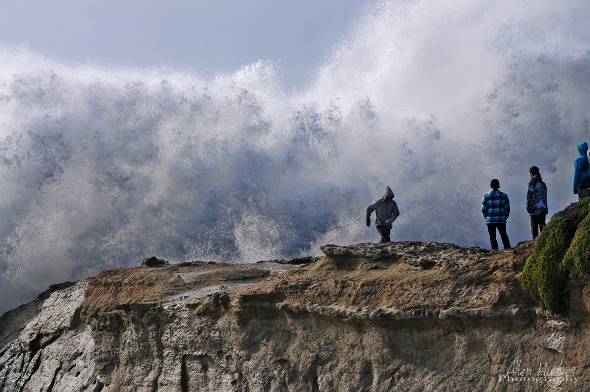
[[[0,391],[590,390],[587,281],[543,315],[519,282],[533,245],[105,271],[0,318]]]

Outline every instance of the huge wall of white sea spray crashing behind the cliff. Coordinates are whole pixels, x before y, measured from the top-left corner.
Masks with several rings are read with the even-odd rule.
[[[377,241],[488,247],[491,178],[530,239],[528,168],[549,214],[590,141],[584,2],[380,2],[301,92],[263,61],[213,80],[71,66],[0,48],[0,312],[143,257],[255,262]]]

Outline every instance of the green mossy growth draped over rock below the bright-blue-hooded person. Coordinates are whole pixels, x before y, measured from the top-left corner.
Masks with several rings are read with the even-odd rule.
[[[553,215],[525,264],[522,285],[539,300],[541,309],[565,310],[562,291],[568,263],[590,270],[590,199]]]

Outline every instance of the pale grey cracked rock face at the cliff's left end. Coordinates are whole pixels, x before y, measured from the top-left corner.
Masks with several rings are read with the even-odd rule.
[[[91,329],[80,319],[89,282],[57,285],[0,318],[0,391],[83,390],[94,372]]]

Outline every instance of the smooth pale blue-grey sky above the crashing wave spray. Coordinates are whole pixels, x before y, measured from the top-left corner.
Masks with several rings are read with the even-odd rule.
[[[70,63],[172,66],[205,77],[271,60],[286,87],[302,87],[368,2],[3,0],[0,41]]]

